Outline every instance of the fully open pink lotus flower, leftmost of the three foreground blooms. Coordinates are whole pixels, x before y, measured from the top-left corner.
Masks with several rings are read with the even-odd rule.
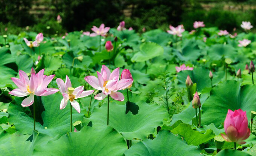
[[[55,88],[47,88],[48,84],[52,81],[55,75],[44,75],[44,69],[40,70],[37,74],[35,74],[34,68],[32,68],[31,71],[32,74],[30,79],[22,70],[19,70],[20,79],[17,77],[11,78],[18,88],[13,89],[11,92],[9,92],[9,94],[17,97],[26,97],[29,95],[29,97],[22,101],[22,107],[32,105],[34,103],[34,95],[47,96],[59,91]]]

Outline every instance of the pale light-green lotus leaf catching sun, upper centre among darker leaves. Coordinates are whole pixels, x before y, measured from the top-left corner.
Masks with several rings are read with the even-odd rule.
[[[156,56],[163,55],[163,47],[154,42],[146,42],[140,45],[140,51],[137,52],[131,61],[144,62]]]

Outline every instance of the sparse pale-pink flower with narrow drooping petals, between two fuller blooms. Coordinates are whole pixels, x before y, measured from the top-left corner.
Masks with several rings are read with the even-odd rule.
[[[94,90],[84,91],[84,86],[72,88],[68,76],[66,76],[65,83],[62,79],[59,78],[56,79],[56,82],[59,87],[59,91],[63,96],[59,109],[64,109],[67,106],[67,102],[70,101],[70,104],[75,108],[76,111],[78,111],[78,113],[80,113],[79,103],[75,99],[87,97],[88,95],[91,95],[94,92]]]

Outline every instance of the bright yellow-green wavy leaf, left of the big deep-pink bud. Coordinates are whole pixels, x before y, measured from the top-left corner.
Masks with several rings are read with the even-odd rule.
[[[198,131],[194,131],[190,125],[186,123],[181,123],[176,128],[172,129],[171,132],[173,134],[181,135],[187,142],[188,145],[198,146],[202,143],[205,143],[214,138],[213,131],[211,129],[207,129],[207,131],[202,134]]]

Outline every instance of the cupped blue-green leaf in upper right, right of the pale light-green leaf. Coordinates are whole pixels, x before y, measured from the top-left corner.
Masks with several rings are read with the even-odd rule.
[[[187,42],[181,52],[175,51],[178,58],[182,61],[193,61],[196,60],[200,55],[200,49],[197,43],[194,41]]]

